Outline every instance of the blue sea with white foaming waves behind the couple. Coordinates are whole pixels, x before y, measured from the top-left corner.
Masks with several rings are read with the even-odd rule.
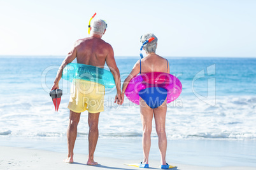
[[[70,82],[61,80],[59,83],[60,89],[63,90],[59,112],[54,111],[49,96],[64,57],[1,56],[0,59],[0,144],[31,147],[34,142],[32,148],[66,152],[63,148],[66,148],[66,129],[69,121],[67,105]],[[247,156],[243,159],[249,162],[256,160],[255,154],[252,154],[255,147],[248,147],[255,146],[252,143],[256,141],[256,58],[167,59],[171,74],[178,77],[183,85],[180,97],[169,103],[167,108],[166,133],[169,143],[179,141],[181,145],[180,143],[190,140],[200,145],[198,143],[205,141],[239,141],[240,146],[246,148],[243,155]],[[122,82],[137,61],[136,57],[116,59]],[[115,146],[118,145],[118,140],[120,143],[126,143],[125,145],[131,145],[131,148],[136,148],[139,141],[140,151],[136,154],[141,154],[139,106],[127,98],[124,105],[115,104],[115,93],[115,89],[106,89],[104,112],[99,119],[98,147],[108,155],[108,148],[111,147],[106,147],[107,142],[104,141],[115,141],[113,145],[108,142],[108,145]],[[84,154],[87,153],[87,147],[84,146],[83,150],[83,145],[80,146],[79,143],[87,141],[87,135],[85,111],[78,126],[77,140],[77,146]],[[157,145],[157,133],[154,130],[152,140]],[[197,142],[193,142],[195,140]],[[245,141],[249,144],[244,143]],[[175,151],[174,148],[172,150]],[[112,149],[111,152],[113,155],[120,154],[118,150]],[[158,153],[157,150],[155,152]],[[178,153],[177,150],[176,154]],[[173,152],[170,155],[172,154]],[[130,154],[130,157],[132,155],[134,153]],[[186,155],[183,153],[182,157]],[[173,160],[182,162],[183,159],[178,158],[179,154]],[[232,166],[231,162],[228,165]],[[256,166],[256,163],[251,166]]]

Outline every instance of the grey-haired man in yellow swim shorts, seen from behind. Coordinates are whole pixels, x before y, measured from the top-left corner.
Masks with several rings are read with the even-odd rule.
[[[120,74],[119,70],[117,68],[117,64],[115,62],[114,58],[114,52],[113,48],[110,44],[103,41],[101,37],[106,32],[106,22],[101,19],[94,20],[92,23],[90,29],[91,34],[90,37],[84,38],[84,39],[78,39],[78,41],[75,42],[73,49],[68,53],[62,64],[60,65],[59,71],[57,72],[57,76],[55,78],[55,81],[53,83],[52,89],[58,89],[59,88],[59,81],[62,76],[62,71],[64,67],[71,63],[75,58],[77,60],[77,63],[82,63],[85,65],[93,65],[96,67],[103,68],[104,64],[108,65],[108,67],[111,70],[111,73],[114,76],[115,84],[117,87],[117,95],[115,96],[115,102],[117,101],[118,104],[122,103],[122,96],[121,96],[121,90],[120,90]],[[90,83],[90,82],[89,82]],[[76,88],[76,86],[80,85],[83,86],[89,86],[89,91],[84,91],[83,94],[81,91],[79,91],[79,88]],[[97,86],[96,86],[97,85]],[[83,88],[87,88],[83,87]],[[80,87],[81,88],[81,87]],[[95,89],[92,89],[95,88]],[[88,89],[88,88],[87,88]],[[80,83],[75,84],[73,82],[73,86],[71,88],[71,92],[73,91],[74,94],[71,93],[71,97],[69,100],[68,108],[70,110],[69,115],[69,126],[67,131],[68,136],[68,157],[64,160],[64,162],[72,163],[73,160],[73,149],[75,145],[76,135],[77,135],[77,126],[78,122],[80,121],[80,114],[81,112],[84,112],[85,110],[88,110],[88,124],[89,124],[89,155],[88,155],[88,165],[96,165],[97,162],[94,161],[94,151],[96,149],[97,140],[99,136],[98,131],[98,122],[99,122],[99,113],[104,110],[103,107],[103,100],[104,100],[104,86],[101,84],[87,84],[86,83]],[[88,92],[88,94],[87,94]],[[79,95],[83,95],[82,99]],[[90,98],[87,98],[88,96],[97,96],[97,98],[92,98],[94,102],[90,102]],[[87,98],[84,100],[84,98]],[[90,103],[97,102],[97,105],[90,105]],[[87,108],[88,107],[88,108]]]

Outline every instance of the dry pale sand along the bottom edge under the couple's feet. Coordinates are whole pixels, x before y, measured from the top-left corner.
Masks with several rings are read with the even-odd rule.
[[[66,164],[62,159],[66,154],[59,152],[50,152],[46,150],[32,150],[28,148],[0,147],[0,169],[140,169],[139,167],[125,166],[125,163],[134,163],[138,160],[129,160],[122,157],[113,159],[108,157],[96,157],[99,162],[97,166],[87,166],[87,155],[75,154],[75,162]],[[178,169],[256,169],[256,167],[206,167],[191,166],[185,164],[172,164],[178,166]],[[150,169],[160,169],[159,162],[152,160]]]

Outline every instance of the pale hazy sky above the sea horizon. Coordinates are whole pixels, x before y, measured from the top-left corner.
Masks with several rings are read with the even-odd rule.
[[[153,32],[161,56],[256,57],[255,9],[253,0],[0,0],[0,55],[66,55],[97,12],[115,56],[139,56],[139,38]]]

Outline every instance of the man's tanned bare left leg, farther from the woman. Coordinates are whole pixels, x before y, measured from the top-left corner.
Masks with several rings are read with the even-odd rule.
[[[73,155],[74,155],[74,146],[76,141],[77,135],[77,126],[80,120],[81,113],[76,113],[70,110],[69,114],[69,125],[67,130],[67,137],[68,137],[68,157],[64,159],[64,162],[73,163]]]

